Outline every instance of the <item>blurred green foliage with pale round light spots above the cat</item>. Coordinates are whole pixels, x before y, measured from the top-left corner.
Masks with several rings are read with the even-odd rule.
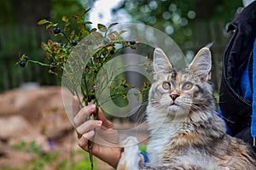
[[[184,44],[195,41],[196,23],[228,23],[241,7],[241,1],[230,0],[131,0],[121,1],[113,9],[113,15],[125,8],[133,22],[154,26],[172,36],[178,44]]]

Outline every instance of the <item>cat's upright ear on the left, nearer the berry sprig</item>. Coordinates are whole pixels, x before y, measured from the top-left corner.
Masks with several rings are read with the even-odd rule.
[[[166,54],[160,48],[154,49],[154,72],[168,71],[172,69],[172,65]]]

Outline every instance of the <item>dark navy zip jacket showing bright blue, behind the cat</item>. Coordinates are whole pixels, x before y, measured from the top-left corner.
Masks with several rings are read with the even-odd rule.
[[[256,69],[253,71],[253,60],[256,63],[256,57],[253,59],[256,1],[236,15],[228,31],[234,33],[224,51],[219,114],[224,117],[231,135],[253,144],[253,128],[256,135],[256,115],[255,123],[252,123],[253,83],[256,83],[253,82],[253,72],[256,74]]]

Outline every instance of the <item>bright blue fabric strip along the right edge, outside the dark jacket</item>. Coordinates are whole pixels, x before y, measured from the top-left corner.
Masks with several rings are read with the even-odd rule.
[[[252,114],[252,124],[251,133],[253,138],[256,137],[256,41],[253,45],[253,114]]]

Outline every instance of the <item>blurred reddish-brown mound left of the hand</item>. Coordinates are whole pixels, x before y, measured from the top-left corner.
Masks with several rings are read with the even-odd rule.
[[[0,94],[0,105],[3,129],[0,137],[3,138],[23,135],[29,139],[26,134],[37,133],[55,140],[73,129],[62,103],[60,87],[16,88]]]

